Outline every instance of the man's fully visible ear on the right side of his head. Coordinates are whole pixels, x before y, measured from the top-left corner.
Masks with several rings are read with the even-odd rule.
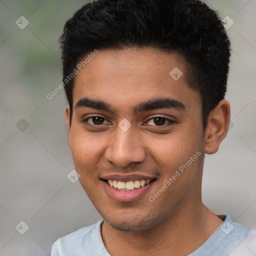
[[[230,120],[230,105],[227,100],[219,101],[210,112],[204,133],[204,153],[213,154],[226,136]]]

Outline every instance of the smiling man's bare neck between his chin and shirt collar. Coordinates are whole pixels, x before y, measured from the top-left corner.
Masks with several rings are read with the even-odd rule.
[[[115,230],[106,221],[101,237],[112,256],[188,255],[198,248],[223,221],[200,200],[180,209],[158,225],[141,231]]]

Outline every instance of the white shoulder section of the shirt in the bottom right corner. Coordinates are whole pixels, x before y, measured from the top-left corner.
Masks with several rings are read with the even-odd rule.
[[[229,256],[254,256],[256,254],[256,230],[249,230],[246,236]]]

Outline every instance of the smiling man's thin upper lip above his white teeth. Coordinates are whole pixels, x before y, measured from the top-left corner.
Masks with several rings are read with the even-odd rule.
[[[108,175],[101,175],[100,178],[127,182],[127,181],[130,181],[130,180],[141,180],[141,179],[152,180],[152,179],[156,179],[157,177],[153,176],[153,175],[138,174],[138,173],[129,173],[129,174],[113,173],[113,174],[108,174]]]

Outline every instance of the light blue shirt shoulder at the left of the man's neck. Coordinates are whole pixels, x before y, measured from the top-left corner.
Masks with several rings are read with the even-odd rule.
[[[82,227],[58,238],[52,245],[51,256],[75,255],[79,250],[88,251],[91,246],[100,244],[102,242],[100,235],[102,221],[101,219],[90,226]]]

